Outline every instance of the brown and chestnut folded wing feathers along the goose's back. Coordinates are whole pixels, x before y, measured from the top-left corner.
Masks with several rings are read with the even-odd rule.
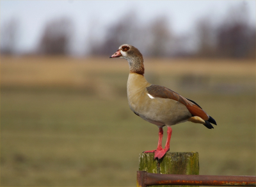
[[[154,98],[165,98],[179,101],[188,108],[189,112],[193,116],[199,116],[204,120],[209,119],[209,116],[206,114],[206,112],[204,112],[204,110],[198,104],[196,104],[195,101],[188,100],[180,94],[175,93],[175,91],[168,89],[167,87],[152,84],[151,86],[147,87],[147,91]]]

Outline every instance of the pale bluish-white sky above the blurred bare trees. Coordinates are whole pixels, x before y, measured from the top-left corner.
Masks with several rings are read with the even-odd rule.
[[[256,1],[0,1],[0,24],[17,18],[20,21],[18,51],[29,51],[38,44],[45,23],[51,19],[69,17],[74,21],[76,47],[86,45],[90,27],[95,23],[100,31],[118,21],[125,13],[138,12],[141,24],[150,22],[159,15],[166,15],[173,32],[187,33],[200,17],[211,16],[216,22],[223,19],[230,8],[244,4],[249,22],[255,26]],[[127,18],[129,19],[129,17]],[[124,20],[125,22],[125,20]],[[99,36],[100,38],[100,36]],[[81,51],[80,51],[81,52]]]

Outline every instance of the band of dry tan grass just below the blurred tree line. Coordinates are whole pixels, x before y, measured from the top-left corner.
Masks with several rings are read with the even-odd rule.
[[[243,61],[241,63],[241,61]],[[147,72],[173,76],[254,76],[253,60],[229,59],[145,59]],[[1,84],[26,86],[84,86],[98,73],[128,73],[124,59],[108,57],[77,59],[71,57],[1,57]],[[93,77],[97,79],[97,77]]]

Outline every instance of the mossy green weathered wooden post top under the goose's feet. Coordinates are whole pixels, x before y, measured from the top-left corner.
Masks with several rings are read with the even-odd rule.
[[[154,174],[199,175],[199,156],[197,152],[167,152],[157,161],[154,160],[154,153],[141,153],[139,170]]]

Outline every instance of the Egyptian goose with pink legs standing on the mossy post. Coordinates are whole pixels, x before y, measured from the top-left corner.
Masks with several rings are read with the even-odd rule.
[[[122,57],[129,62],[130,73],[127,81],[127,96],[129,106],[134,114],[149,123],[156,124],[159,128],[159,140],[156,150],[144,151],[155,153],[154,158],[160,160],[170,149],[172,136],[171,126],[174,124],[191,121],[204,124],[213,128],[216,121],[195,101],[184,98],[178,93],[163,87],[150,84],[144,77],[143,56],[132,45],[121,45],[110,58]],[[162,147],[163,126],[167,126],[167,140]]]

